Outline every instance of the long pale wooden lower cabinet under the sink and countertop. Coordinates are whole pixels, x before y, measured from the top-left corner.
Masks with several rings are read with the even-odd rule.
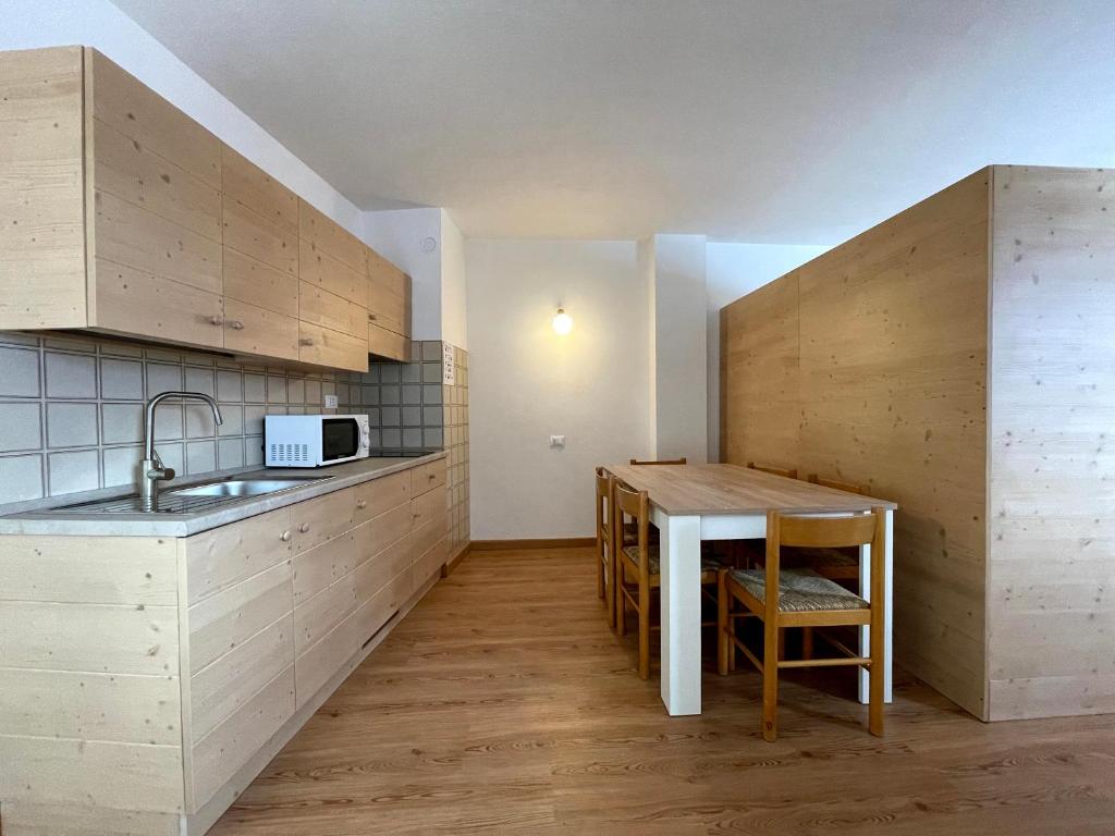
[[[426,473],[178,539],[0,536],[4,836],[204,833],[438,574]]]

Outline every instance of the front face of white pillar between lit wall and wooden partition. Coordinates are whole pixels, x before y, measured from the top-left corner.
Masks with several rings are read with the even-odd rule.
[[[708,455],[705,236],[655,235],[655,455]]]

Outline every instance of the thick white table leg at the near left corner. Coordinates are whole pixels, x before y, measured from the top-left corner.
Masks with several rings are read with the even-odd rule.
[[[661,693],[671,716],[700,713],[700,517],[663,516]]]

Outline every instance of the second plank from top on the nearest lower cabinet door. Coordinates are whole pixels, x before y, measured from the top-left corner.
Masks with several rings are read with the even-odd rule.
[[[294,606],[290,560],[190,607],[190,672],[197,673]]]

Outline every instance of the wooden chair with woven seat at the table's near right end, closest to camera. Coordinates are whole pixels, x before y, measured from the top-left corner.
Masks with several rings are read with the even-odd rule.
[[[871,603],[809,570],[782,568],[784,546],[840,548],[871,544],[872,555],[883,554],[885,512],[846,517],[783,516],[767,514],[766,567],[721,570],[717,607],[717,669],[728,672],[729,651],[738,648],[763,673],[763,738],[778,737],[778,670],[857,665],[870,672],[867,728],[883,733],[883,561],[871,562]],[[734,610],[736,602],[743,610]],[[763,658],[759,659],[737,636],[738,619],[763,622]],[[871,655],[860,657],[842,642],[830,640],[841,654],[826,659],[782,661],[778,631],[803,626],[869,625]]]

